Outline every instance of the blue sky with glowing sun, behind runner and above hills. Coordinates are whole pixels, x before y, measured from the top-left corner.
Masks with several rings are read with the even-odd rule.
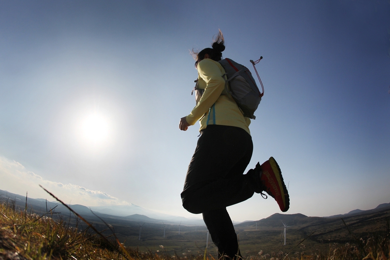
[[[264,57],[248,169],[278,161],[287,213],[390,202],[387,0],[0,1],[0,189],[194,216],[180,192],[199,127],[178,122],[195,106],[189,52],[218,29],[225,58]],[[279,212],[259,195],[228,210]]]

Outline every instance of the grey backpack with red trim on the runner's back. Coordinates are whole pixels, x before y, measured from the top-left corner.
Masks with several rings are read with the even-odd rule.
[[[262,58],[263,57],[256,61],[251,60],[253,66]],[[261,97],[264,95],[263,83],[260,80],[256,68],[254,67],[254,70],[260,81],[263,90],[262,93],[258,89],[256,81],[247,67],[227,58],[219,60],[218,62],[225,69],[226,74],[223,76],[226,75],[228,78],[226,80],[225,89],[232,95],[238,107],[243,112],[244,117],[255,119],[254,111],[256,111],[261,101]]]

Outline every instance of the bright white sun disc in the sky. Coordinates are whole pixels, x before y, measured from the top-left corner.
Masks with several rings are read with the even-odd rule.
[[[94,143],[101,143],[108,139],[109,123],[98,114],[87,116],[82,122],[81,129],[83,137]]]

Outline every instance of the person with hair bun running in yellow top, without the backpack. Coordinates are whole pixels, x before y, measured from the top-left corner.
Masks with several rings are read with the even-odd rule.
[[[196,56],[197,87],[204,92],[189,115],[180,119],[179,129],[186,131],[200,122],[200,137],[188,166],[181,199],[183,207],[202,213],[211,238],[218,249],[218,259],[242,258],[233,222],[226,207],[263,192],[273,197],[281,211],[290,207],[290,199],[280,168],[271,157],[244,174],[253,153],[249,125],[234,99],[225,91],[226,76],[218,62],[225,50],[219,31],[212,48]]]

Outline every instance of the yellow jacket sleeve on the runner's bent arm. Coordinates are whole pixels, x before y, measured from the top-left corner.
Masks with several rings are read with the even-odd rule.
[[[209,111],[225,89],[225,79],[222,77],[222,71],[214,60],[201,60],[197,65],[197,70],[199,77],[206,82],[206,88],[191,114],[186,117],[187,122],[191,125],[194,125]]]

